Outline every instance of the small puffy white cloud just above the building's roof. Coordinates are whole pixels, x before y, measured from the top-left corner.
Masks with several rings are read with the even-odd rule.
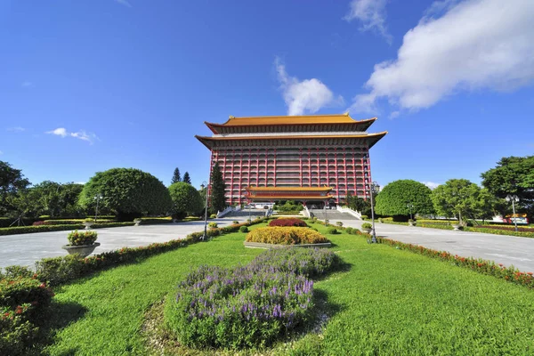
[[[342,104],[343,97],[334,96],[334,93],[328,89],[319,79],[304,79],[299,81],[296,77],[289,77],[286,72],[286,66],[277,57],[274,61],[280,90],[286,101],[287,115],[303,115],[304,113],[315,113],[321,108]]]

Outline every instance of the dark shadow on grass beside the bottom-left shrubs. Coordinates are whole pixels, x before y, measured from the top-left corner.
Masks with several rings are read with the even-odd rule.
[[[76,322],[84,317],[87,309],[78,303],[60,303],[53,301],[50,304],[48,311],[45,313],[39,327],[38,341],[34,347],[36,352],[29,352],[29,355],[46,355],[47,352],[44,348],[53,344],[56,333],[61,328],[66,328],[69,324]],[[38,352],[37,352],[38,350]],[[61,352],[61,355],[75,355],[77,349],[70,349],[68,351]]]

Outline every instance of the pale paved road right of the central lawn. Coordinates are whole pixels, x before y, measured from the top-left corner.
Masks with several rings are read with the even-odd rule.
[[[344,226],[361,227],[361,221],[344,220]],[[534,239],[480,232],[449,231],[376,223],[376,235],[421,245],[454,255],[514,265],[520,271],[534,271]]]

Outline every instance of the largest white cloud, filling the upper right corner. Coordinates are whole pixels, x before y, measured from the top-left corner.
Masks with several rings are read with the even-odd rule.
[[[357,95],[352,110],[373,109],[379,98],[417,110],[461,91],[532,82],[534,1],[449,0],[431,9],[404,36],[397,59],[376,64],[369,93]],[[433,18],[438,10],[445,13]]]

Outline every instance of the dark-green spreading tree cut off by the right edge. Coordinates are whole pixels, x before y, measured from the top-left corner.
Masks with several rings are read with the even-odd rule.
[[[518,210],[534,216],[534,156],[501,158],[495,168],[481,177],[482,186],[491,194],[498,198],[516,195]]]

